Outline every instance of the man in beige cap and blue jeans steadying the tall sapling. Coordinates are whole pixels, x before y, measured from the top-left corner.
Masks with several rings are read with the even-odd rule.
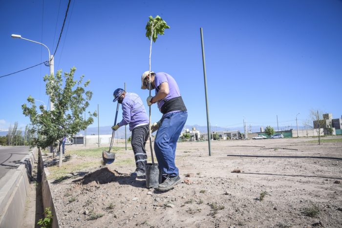
[[[171,75],[146,71],[141,77],[142,89],[155,89],[155,96],[147,98],[147,104],[157,103],[163,116],[154,123],[151,132],[157,131],[154,140],[155,156],[163,172],[163,182],[158,190],[166,191],[181,182],[175,165],[175,153],[179,135],[188,118],[187,108],[180,95],[178,85]]]

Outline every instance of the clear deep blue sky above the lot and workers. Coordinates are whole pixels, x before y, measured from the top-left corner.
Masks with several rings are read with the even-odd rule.
[[[54,52],[66,6],[66,0],[0,0],[0,76],[47,60],[44,47],[11,34]],[[177,81],[187,124],[207,123],[200,27],[213,126],[234,129],[244,117],[248,125],[277,126],[277,115],[279,125],[295,126],[297,113],[300,124],[310,109],[341,118],[340,0],[71,0],[54,69],[76,66],[76,77],[90,79],[89,110],[99,104],[101,126],[114,122],[116,88],[126,83],[143,101],[148,96],[140,77],[149,67],[150,15],[171,26],[152,44],[151,65]],[[29,95],[48,103],[48,73],[41,65],[0,78],[0,129],[29,123],[21,110]],[[152,121],[159,120],[155,105],[152,110]]]

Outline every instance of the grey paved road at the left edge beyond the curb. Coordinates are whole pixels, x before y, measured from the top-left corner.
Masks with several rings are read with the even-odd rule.
[[[29,153],[28,149],[28,146],[0,146],[0,178],[20,165],[20,160]]]

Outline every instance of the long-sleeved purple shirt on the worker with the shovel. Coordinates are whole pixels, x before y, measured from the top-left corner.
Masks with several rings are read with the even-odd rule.
[[[118,125],[127,124],[129,124],[130,131],[134,127],[149,124],[145,106],[138,94],[135,93],[126,93],[122,101],[122,121]]]

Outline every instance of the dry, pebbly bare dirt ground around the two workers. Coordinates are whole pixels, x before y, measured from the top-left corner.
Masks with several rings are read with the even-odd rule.
[[[111,165],[78,170],[52,184],[60,226],[342,227],[342,160],[299,157],[342,158],[342,142],[312,140],[212,141],[212,156],[207,141],[179,143],[182,183],[166,192],[131,177],[134,163],[120,161],[133,159],[133,152],[123,150]],[[91,160],[72,156],[63,166]]]

